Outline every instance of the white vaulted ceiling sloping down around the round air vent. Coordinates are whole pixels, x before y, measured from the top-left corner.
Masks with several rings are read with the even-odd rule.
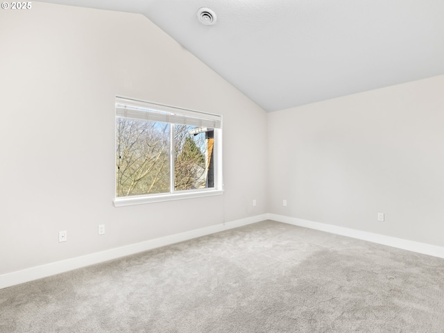
[[[44,2],[142,13],[266,111],[444,74],[443,0]]]

